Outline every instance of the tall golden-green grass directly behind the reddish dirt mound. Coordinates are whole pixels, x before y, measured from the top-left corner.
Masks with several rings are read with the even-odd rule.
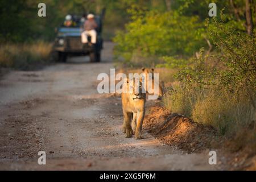
[[[236,94],[229,93],[214,86],[201,90],[193,87],[184,89],[178,83],[172,85],[163,101],[175,113],[213,126],[221,135],[232,135],[249,127],[255,128],[256,110],[244,93],[242,90]]]

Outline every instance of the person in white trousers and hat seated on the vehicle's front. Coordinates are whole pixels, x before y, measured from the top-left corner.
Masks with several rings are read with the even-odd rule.
[[[84,30],[81,34],[82,38],[82,43],[86,44],[88,43],[88,35],[91,37],[91,43],[96,44],[96,38],[97,38],[97,23],[94,20],[94,15],[93,14],[88,14],[87,15],[87,20],[85,20],[84,23]]]

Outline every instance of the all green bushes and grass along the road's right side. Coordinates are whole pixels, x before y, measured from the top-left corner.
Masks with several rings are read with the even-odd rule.
[[[172,1],[165,10],[134,4],[114,38],[116,65],[174,73],[162,78],[163,105],[255,154],[256,4],[216,1],[217,17],[210,18],[209,3]]]

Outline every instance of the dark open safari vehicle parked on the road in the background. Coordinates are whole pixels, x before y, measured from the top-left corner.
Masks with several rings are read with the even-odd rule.
[[[101,15],[96,15],[94,19],[97,23],[97,42],[93,46],[90,44],[90,36],[88,36],[88,44],[83,45],[81,42],[81,32],[83,30],[84,22],[81,22],[81,17],[73,15],[72,20],[75,25],[66,27],[62,24],[60,27],[56,28],[56,38],[53,44],[53,52],[56,59],[61,62],[67,61],[67,56],[81,55],[90,57],[90,62],[100,62],[101,61],[101,49],[103,48],[103,39],[101,36],[102,32],[102,17],[104,11]]]

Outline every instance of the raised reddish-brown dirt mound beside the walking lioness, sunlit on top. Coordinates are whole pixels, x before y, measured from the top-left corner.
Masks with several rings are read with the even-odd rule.
[[[191,119],[171,113],[162,106],[153,106],[146,115],[144,129],[163,143],[176,146],[187,152],[210,148],[216,139],[212,127],[203,126]]]

